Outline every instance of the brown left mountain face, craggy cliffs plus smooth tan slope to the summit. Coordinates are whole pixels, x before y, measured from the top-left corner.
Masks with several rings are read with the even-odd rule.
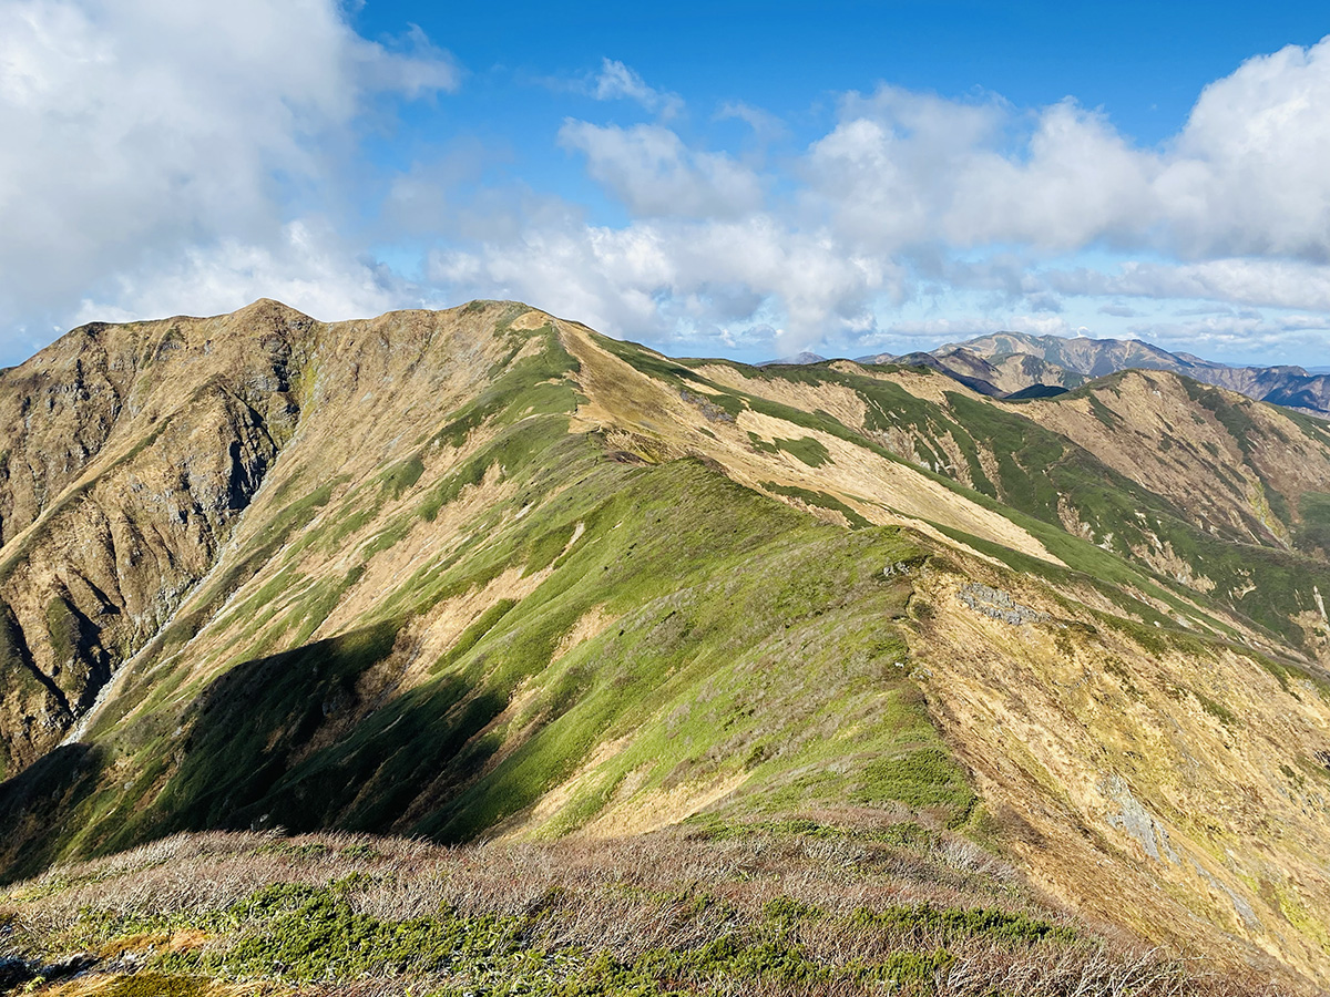
[[[57,744],[172,621],[298,433],[279,502],[372,468],[422,413],[484,386],[507,348],[493,326],[483,307],[329,326],[259,300],[84,326],[0,372],[0,669],[21,677],[0,686],[5,770]],[[262,564],[227,565],[222,596]]]

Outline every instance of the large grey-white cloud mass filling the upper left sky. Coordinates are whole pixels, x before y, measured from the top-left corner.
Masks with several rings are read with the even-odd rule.
[[[419,31],[400,49],[366,41],[335,0],[3,0],[0,308],[63,320],[105,296],[124,310],[116,294],[154,274],[164,288],[145,300],[166,304],[192,266],[222,279],[237,251],[287,254],[359,117],[456,85]],[[289,263],[287,280],[319,273]],[[180,286],[166,310],[201,295],[235,307],[245,287]]]

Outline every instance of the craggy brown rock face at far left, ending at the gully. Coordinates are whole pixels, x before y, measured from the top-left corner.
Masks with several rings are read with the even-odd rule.
[[[0,374],[0,746],[31,764],[211,568],[299,419],[314,322],[74,330]]]

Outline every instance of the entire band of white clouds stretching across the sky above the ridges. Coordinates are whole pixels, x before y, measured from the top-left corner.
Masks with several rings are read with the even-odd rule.
[[[730,100],[698,125],[606,58],[555,88],[581,101],[555,141],[612,207],[569,199],[557,169],[512,175],[553,152],[516,138],[452,136],[367,193],[366,126],[459,72],[419,31],[359,37],[336,0],[0,0],[0,310],[29,339],[70,302],[271,294],[326,318],[516,296],[616,335],[781,354],[1097,323],[1233,352],[1326,343],[1330,37],[1245,61],[1153,146],[1073,98],[891,85],[826,118]],[[588,97],[644,120],[584,120]]]

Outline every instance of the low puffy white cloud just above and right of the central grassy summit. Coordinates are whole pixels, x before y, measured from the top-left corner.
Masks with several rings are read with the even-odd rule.
[[[871,327],[871,302],[899,296],[890,261],[847,253],[767,214],[735,221],[642,221],[612,229],[533,227],[434,255],[430,277],[459,296],[541,302],[613,335],[669,339],[755,324],[779,311],[782,348]]]

